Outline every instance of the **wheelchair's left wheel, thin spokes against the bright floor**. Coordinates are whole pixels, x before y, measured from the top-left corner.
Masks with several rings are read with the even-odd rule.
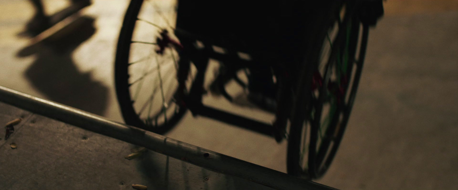
[[[117,52],[115,79],[125,122],[156,133],[166,132],[184,114],[186,109],[176,92],[185,92],[192,83],[187,80],[182,86],[177,80],[180,44],[174,36],[176,5],[176,1],[152,0],[137,4],[138,14],[130,19],[135,22],[131,38],[121,42],[120,36],[118,44],[118,51],[124,52]],[[120,49],[121,43],[127,47]],[[120,54],[127,56],[124,62],[118,60]]]

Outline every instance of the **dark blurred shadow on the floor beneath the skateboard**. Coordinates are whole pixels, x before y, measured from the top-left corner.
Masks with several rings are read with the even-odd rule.
[[[76,47],[95,33],[93,23],[93,18],[84,16],[77,27],[72,27],[77,30],[27,46],[17,56],[37,57],[24,75],[47,98],[103,115],[108,103],[108,87],[94,81],[90,72],[79,72],[71,57]]]

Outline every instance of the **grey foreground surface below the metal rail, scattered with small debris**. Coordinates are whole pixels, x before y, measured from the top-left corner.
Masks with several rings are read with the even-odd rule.
[[[132,184],[149,190],[273,190],[153,151],[128,160],[138,147],[5,103],[0,110],[2,123],[22,118],[11,138],[0,142],[4,190],[130,190]]]

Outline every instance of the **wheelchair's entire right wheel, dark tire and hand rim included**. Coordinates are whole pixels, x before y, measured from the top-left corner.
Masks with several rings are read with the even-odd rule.
[[[319,71],[319,65],[309,66],[309,68],[318,72],[313,74],[310,72],[308,75],[303,75],[306,78],[304,80],[309,84],[298,87],[300,88],[298,92],[304,92],[306,96],[303,97],[306,97],[306,100],[305,103],[298,103],[298,100],[304,99],[299,95],[299,97],[296,97],[294,104],[297,106],[302,105],[306,108],[303,108],[303,111],[298,111],[299,109],[295,108],[291,115],[287,156],[287,170],[291,175],[308,179],[322,177],[337,153],[349,120],[360,81],[368,27],[361,25],[359,15],[357,15],[353,5],[342,7],[342,9],[345,9],[345,17],[343,19],[334,18],[338,22],[336,25],[339,26],[335,39],[332,40],[329,36],[324,39],[325,42],[323,44],[329,42],[332,50],[329,57],[326,57],[323,71]],[[323,31],[328,32],[331,27],[324,27]],[[360,33],[360,31],[362,32]],[[323,55],[326,56],[323,52],[324,46],[318,46],[317,48],[321,50],[318,50],[320,54],[316,55],[318,56],[316,58],[319,59]],[[355,56],[357,54],[358,59],[356,61]],[[344,64],[344,59],[348,64]],[[333,78],[331,73],[333,71],[337,73],[338,69],[341,71],[344,67],[344,77],[341,76],[337,79],[338,77],[334,76]],[[321,76],[322,81],[318,82],[317,78],[320,77],[317,76]],[[347,77],[350,78],[347,80]],[[342,82],[342,78],[346,78],[345,80],[348,82]],[[338,83],[337,81],[340,82],[337,85],[338,89],[332,90],[333,87],[329,86]],[[321,86],[318,83],[321,83]],[[342,85],[342,83],[344,84]],[[335,95],[338,90],[342,90],[341,88],[344,92],[340,93],[339,96]],[[333,95],[334,98],[327,98],[330,95]],[[328,117],[324,118],[328,122],[322,117],[326,104],[330,104],[328,107],[331,107],[328,108]]]

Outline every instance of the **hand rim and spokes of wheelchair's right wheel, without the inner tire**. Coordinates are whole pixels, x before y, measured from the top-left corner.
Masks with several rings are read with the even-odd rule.
[[[354,62],[353,55],[360,54],[364,59],[361,54],[365,53],[365,42],[364,36],[359,36],[360,22],[356,16],[350,17],[349,7],[343,10],[344,19],[338,19],[333,29],[344,27],[328,32],[323,44],[320,66],[324,67],[319,67],[313,77],[311,115],[301,131],[299,163],[303,175],[311,178],[321,177],[333,160],[348,122],[362,67],[362,62]]]

